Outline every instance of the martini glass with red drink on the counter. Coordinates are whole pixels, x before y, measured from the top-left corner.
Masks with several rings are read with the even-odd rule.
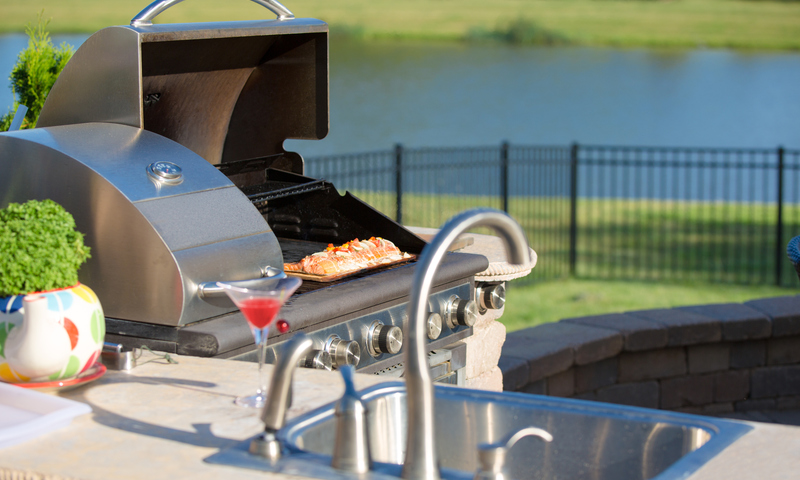
[[[217,282],[234,304],[241,310],[250,325],[256,345],[258,345],[258,390],[253,395],[236,397],[234,403],[244,407],[263,407],[266,403],[267,384],[264,381],[264,355],[267,348],[269,326],[278,316],[283,306],[297,287],[303,283],[297,277],[275,279],[262,285],[241,286],[236,282]]]

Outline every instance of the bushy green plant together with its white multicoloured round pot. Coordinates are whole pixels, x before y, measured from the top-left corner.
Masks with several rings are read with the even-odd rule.
[[[105,317],[78,281],[89,257],[75,220],[56,202],[0,209],[0,380],[61,380],[94,366]]]

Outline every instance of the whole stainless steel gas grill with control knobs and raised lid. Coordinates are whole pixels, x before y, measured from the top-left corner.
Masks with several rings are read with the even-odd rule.
[[[425,242],[324,179],[286,139],[328,132],[328,27],[295,19],[152,25],[171,2],[91,36],[36,129],[0,134],[0,206],[52,198],[92,248],[81,281],[100,297],[107,340],[128,348],[255,358],[217,281],[274,275],[327,243]],[[258,1],[274,6],[269,1]],[[288,11],[287,11],[288,12]],[[453,253],[430,299],[432,364],[456,381],[476,315],[479,255]],[[308,365],[397,374],[413,262],[309,282],[282,310],[318,350]],[[270,353],[270,355],[272,355]]]

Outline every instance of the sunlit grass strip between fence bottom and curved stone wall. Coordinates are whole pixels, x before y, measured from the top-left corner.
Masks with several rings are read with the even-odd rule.
[[[800,294],[800,281],[796,288],[578,279],[528,285],[511,282],[500,321],[508,331],[513,331],[586,315],[682,305],[741,303],[756,298],[797,294]]]

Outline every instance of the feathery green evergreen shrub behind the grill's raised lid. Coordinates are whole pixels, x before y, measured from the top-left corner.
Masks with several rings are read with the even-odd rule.
[[[20,105],[28,107],[22,128],[33,128],[39,119],[47,94],[53,88],[58,75],[70,58],[72,47],[62,43],[53,46],[46,27],[50,20],[43,21],[39,13],[36,25],[30,23],[25,28],[28,34],[28,47],[20,52],[17,64],[11,70],[11,91],[14,94],[14,105],[11,110],[0,118],[0,131],[6,131],[11,126],[14,113]]]

